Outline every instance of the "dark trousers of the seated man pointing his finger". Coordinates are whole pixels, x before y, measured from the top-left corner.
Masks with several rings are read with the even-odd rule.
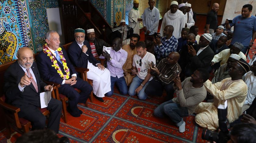
[[[32,130],[44,128],[46,117],[41,113],[37,106],[32,104],[15,106],[20,107],[19,117],[27,119],[32,123]],[[47,128],[58,134],[62,103],[60,100],[52,98],[48,103],[47,109],[50,111]]]

